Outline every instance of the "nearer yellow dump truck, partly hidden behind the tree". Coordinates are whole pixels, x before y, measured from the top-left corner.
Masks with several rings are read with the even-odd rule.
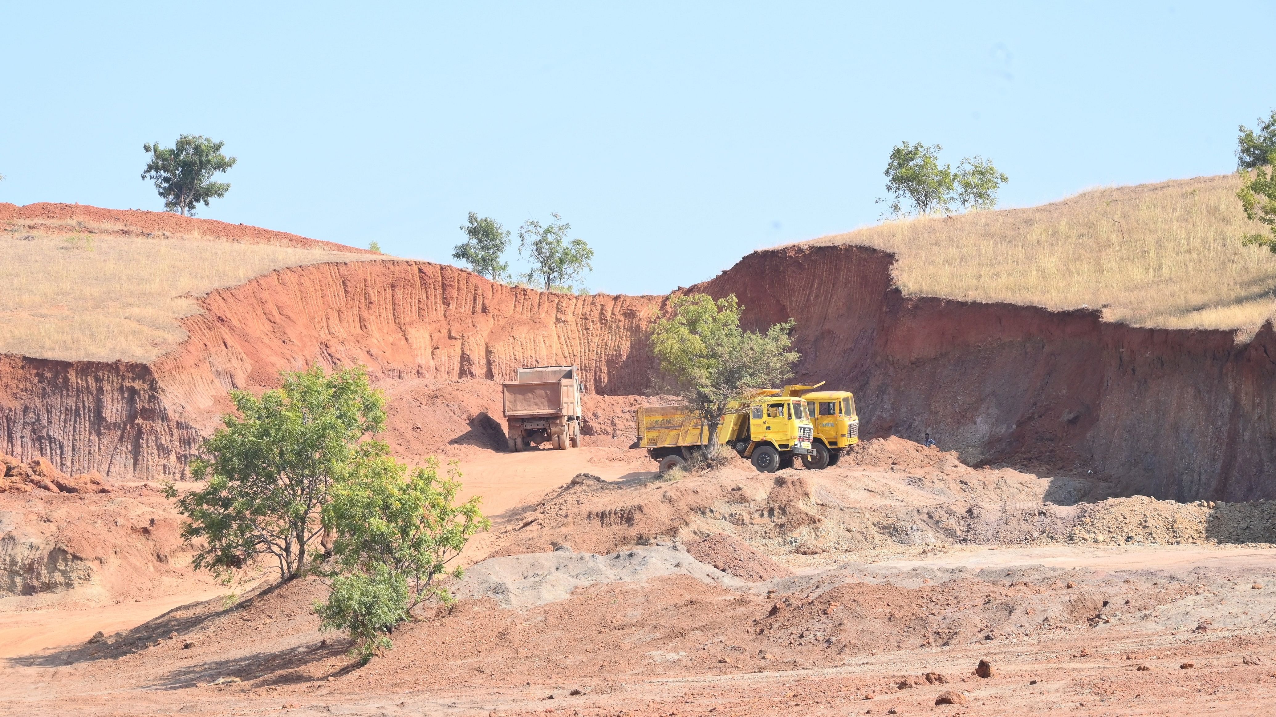
[[[806,401],[759,395],[727,409],[717,442],[749,458],[759,471],[776,472],[792,467],[795,456],[810,453],[813,432]],[[661,472],[686,465],[708,444],[708,425],[688,406],[638,409],[638,447],[647,448],[647,455],[660,461]]]

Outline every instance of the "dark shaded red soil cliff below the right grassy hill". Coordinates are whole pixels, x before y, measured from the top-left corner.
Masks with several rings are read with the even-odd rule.
[[[1276,335],[1138,329],[1096,311],[905,297],[889,253],[791,246],[689,292],[798,320],[799,378],[859,397],[868,436],[930,433],[967,462],[1114,476],[1115,493],[1276,497]],[[819,301],[813,301],[819,297]]]

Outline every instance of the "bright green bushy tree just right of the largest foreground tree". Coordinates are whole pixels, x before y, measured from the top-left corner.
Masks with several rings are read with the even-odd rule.
[[[439,476],[439,464],[408,472],[407,466],[383,456],[359,466],[333,490],[324,520],[333,527],[336,563],[347,572],[374,572],[380,567],[406,578],[411,586],[407,610],[435,597],[453,601],[436,578],[461,577],[448,563],[466,543],[491,526],[478,511],[478,498],[457,504],[461,476],[456,466]]]

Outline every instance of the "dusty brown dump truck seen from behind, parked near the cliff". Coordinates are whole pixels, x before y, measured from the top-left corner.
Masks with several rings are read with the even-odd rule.
[[[581,447],[578,376],[574,366],[536,366],[518,369],[517,381],[501,385],[510,451],[541,443]]]

